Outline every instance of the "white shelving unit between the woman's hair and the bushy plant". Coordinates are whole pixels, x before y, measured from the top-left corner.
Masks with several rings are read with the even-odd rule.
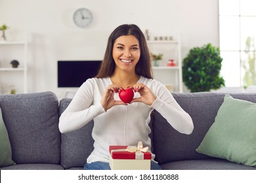
[[[182,92],[182,61],[181,44],[174,41],[147,41],[152,54],[163,54],[160,66],[153,67],[153,76],[156,80],[171,87],[171,92]],[[167,66],[169,59],[173,59],[175,66]]]

